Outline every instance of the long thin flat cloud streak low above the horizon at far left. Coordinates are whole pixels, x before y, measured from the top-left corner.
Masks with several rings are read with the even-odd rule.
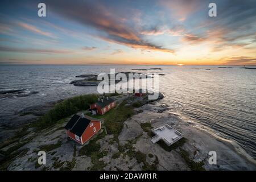
[[[0,51],[4,52],[21,52],[21,53],[46,53],[46,54],[69,54],[73,53],[68,50],[60,50],[60,49],[34,49],[34,48],[12,48],[12,47],[3,47],[0,46]]]

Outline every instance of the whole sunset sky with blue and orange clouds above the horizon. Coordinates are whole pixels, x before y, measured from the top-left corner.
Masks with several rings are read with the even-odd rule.
[[[256,65],[256,1],[1,0],[0,63]]]

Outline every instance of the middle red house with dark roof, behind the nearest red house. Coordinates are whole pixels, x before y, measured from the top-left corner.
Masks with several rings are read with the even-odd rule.
[[[98,99],[98,102],[90,105],[90,110],[92,114],[105,114],[110,109],[115,107],[115,101],[110,97],[103,97]]]

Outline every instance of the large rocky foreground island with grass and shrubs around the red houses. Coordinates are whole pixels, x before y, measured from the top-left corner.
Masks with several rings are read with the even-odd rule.
[[[209,134],[196,123],[185,122],[168,105],[147,96],[112,94],[117,106],[96,115],[102,130],[83,146],[66,137],[64,126],[73,114],[86,113],[97,95],[59,101],[34,122],[20,127],[0,145],[1,169],[6,170],[252,170],[255,160],[242,155],[236,144]],[[82,103],[82,106],[80,106]],[[72,106],[73,105],[73,106]],[[75,105],[75,106],[74,106]],[[60,110],[64,113],[59,113]],[[30,112],[33,112],[30,110]],[[30,113],[31,114],[31,113]],[[26,113],[20,113],[26,115]],[[58,115],[60,115],[58,117]],[[184,138],[172,146],[151,142],[152,128],[162,123],[178,129]],[[38,151],[46,151],[46,165],[38,164]],[[237,151],[240,151],[238,153]],[[217,152],[217,165],[208,152]]]

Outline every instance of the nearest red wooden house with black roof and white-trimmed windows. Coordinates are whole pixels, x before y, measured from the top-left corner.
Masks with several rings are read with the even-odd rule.
[[[88,115],[73,115],[65,126],[66,133],[77,143],[84,144],[101,129],[101,121]]]

